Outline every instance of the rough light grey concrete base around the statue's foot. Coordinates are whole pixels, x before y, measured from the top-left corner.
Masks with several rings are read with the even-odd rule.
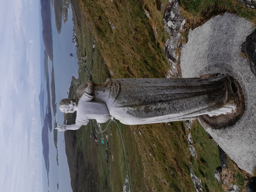
[[[241,57],[240,45],[254,28],[236,15],[218,15],[189,32],[180,58],[183,78],[228,73],[241,85],[245,103],[242,117],[221,129],[203,126],[228,156],[250,174],[256,166],[256,76]]]

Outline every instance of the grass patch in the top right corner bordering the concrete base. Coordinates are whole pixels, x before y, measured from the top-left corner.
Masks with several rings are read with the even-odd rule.
[[[234,13],[256,24],[256,10],[250,9],[237,0],[179,0],[181,13],[186,18],[186,28],[194,29],[211,17],[225,12]]]

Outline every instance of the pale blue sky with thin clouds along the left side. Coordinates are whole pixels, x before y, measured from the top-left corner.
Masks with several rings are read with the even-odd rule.
[[[1,5],[0,191],[41,192],[40,1]]]

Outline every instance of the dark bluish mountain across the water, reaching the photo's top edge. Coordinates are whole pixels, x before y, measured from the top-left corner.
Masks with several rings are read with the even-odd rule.
[[[40,0],[40,3],[41,3],[41,17],[43,21],[44,46],[45,46],[46,52],[50,57],[50,60],[53,60],[51,4],[50,4],[50,0]]]

